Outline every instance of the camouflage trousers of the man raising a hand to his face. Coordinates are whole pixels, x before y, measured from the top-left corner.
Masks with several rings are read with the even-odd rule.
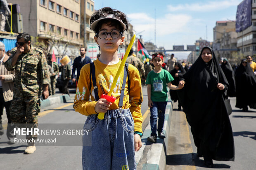
[[[37,128],[40,99],[38,96],[14,97],[10,106],[10,117],[18,128]],[[26,135],[26,139],[37,139],[37,135]]]

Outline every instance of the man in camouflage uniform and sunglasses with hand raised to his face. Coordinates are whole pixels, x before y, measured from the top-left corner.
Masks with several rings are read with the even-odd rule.
[[[10,107],[11,120],[18,127],[26,126],[29,129],[38,127],[39,97],[42,93],[43,98],[48,98],[50,75],[43,51],[31,45],[31,37],[28,33],[17,36],[17,47],[12,50],[12,55],[5,62],[5,68],[15,72],[14,97]],[[37,135],[26,135],[26,139],[36,140]],[[34,142],[28,142],[24,153],[32,154],[35,150]]]

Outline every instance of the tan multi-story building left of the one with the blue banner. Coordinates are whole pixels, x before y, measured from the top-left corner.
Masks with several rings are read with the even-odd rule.
[[[235,21],[216,21],[213,28],[213,45],[215,55],[218,59],[231,59],[237,53],[237,33],[235,32]]]

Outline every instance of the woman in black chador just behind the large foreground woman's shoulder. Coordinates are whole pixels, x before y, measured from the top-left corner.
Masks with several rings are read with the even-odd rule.
[[[230,63],[228,62],[227,58],[224,58],[223,63],[221,64],[220,67],[222,68],[224,75],[228,80],[228,96],[235,97],[235,72]]]

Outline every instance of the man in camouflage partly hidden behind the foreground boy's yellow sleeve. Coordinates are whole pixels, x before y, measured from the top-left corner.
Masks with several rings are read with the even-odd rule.
[[[139,58],[136,57],[135,54],[133,54],[133,49],[130,49],[129,56],[126,59],[126,63],[132,64],[140,71],[140,79],[141,81],[145,81],[145,69],[144,64],[142,61],[140,61]]]

